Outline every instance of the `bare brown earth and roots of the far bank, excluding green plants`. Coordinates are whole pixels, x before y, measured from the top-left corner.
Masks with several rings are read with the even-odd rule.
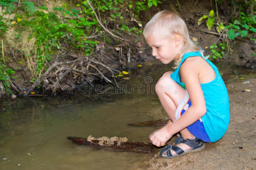
[[[38,1],[33,2],[36,4]],[[153,6],[150,10],[141,11],[138,14],[141,26],[138,25],[137,20],[137,22],[135,22],[133,18],[134,14],[132,14],[131,11],[128,11],[131,16],[128,17],[126,14],[123,16],[123,22],[129,23],[127,25],[131,28],[133,27],[142,31],[144,25],[148,22],[148,19],[156,14],[156,12],[161,10],[175,11],[187,24],[191,38],[195,40],[196,44],[205,50],[205,56],[210,55],[209,46],[212,44],[218,44],[222,41],[224,42],[224,37],[218,35],[216,32],[216,25],[214,25],[214,27],[209,31],[206,27],[206,23],[197,25],[197,20],[203,15],[208,15],[210,10],[216,11],[216,7],[214,7],[214,4],[210,5],[207,1],[183,1],[180,2],[180,4],[176,4],[177,2],[179,1],[163,1],[162,3],[159,3],[157,7]],[[51,6],[53,7],[55,3],[53,3],[53,1],[51,1],[51,3]],[[225,24],[231,22],[230,17],[233,15],[230,13],[233,11],[230,3],[231,2],[225,1],[218,5],[218,15]],[[75,6],[75,4],[72,5]],[[52,7],[49,7],[49,9]],[[124,9],[127,10],[127,8]],[[48,13],[42,15],[47,16],[47,14]],[[110,17],[108,16],[108,12],[101,12],[100,16],[102,19],[106,18],[106,20]],[[94,15],[92,17],[94,18]],[[23,20],[25,20],[25,18]],[[13,43],[10,43],[8,47],[6,45],[8,43],[4,41],[5,65],[6,68],[10,68],[15,71],[13,78],[10,78],[9,80],[10,92],[16,95],[29,95],[30,92],[32,92],[32,94],[36,93],[39,95],[65,95],[72,94],[74,90],[77,90],[77,87],[84,83],[95,85],[97,83],[111,84],[112,82],[112,84],[117,84],[117,82],[122,80],[122,74],[120,75],[121,77],[119,77],[120,71],[127,71],[131,67],[137,67],[138,64],[153,59],[150,54],[151,50],[146,45],[142,33],[131,33],[130,29],[126,32],[122,31],[120,29],[122,25],[121,23],[118,23],[118,20],[106,23],[108,24],[105,24],[105,27],[111,31],[117,31],[117,35],[129,40],[130,43],[115,39],[115,37],[103,31],[105,32],[104,36],[100,36],[101,38],[99,38],[97,35],[95,38],[95,41],[98,42],[98,44],[94,46],[95,52],[92,53],[92,55],[86,56],[83,53],[84,49],[76,50],[65,43],[68,41],[67,39],[61,40],[61,43],[64,41],[61,44],[61,52],[59,52],[59,50],[51,51],[52,60],[51,62],[47,62],[48,67],[40,73],[38,79],[35,79],[36,76],[34,72],[35,67],[39,65],[39,63],[37,63],[39,61],[36,59],[36,52],[31,50],[35,48],[35,44],[32,43],[33,41],[28,41],[29,33],[20,33],[24,40],[22,39],[22,41],[17,41],[13,36],[13,29],[19,28],[18,24],[13,29],[7,31],[6,42],[13,40]],[[100,28],[103,30],[102,27],[99,27],[99,29]],[[19,30],[17,29],[16,31]],[[9,35],[10,38],[8,38],[9,36],[7,35]],[[70,41],[75,42],[73,40]],[[233,49],[233,53],[225,54],[223,55],[223,58],[229,59],[239,66],[254,68],[255,57],[252,54],[255,54],[255,43],[245,39],[242,39],[241,41],[240,39],[230,42],[229,45],[230,48]],[[31,46],[31,52],[29,49],[22,49],[21,46]],[[28,59],[24,56],[22,51],[25,51],[27,54],[33,54],[34,58]],[[31,68],[33,67],[34,72],[32,72],[28,66]],[[9,95],[9,92],[5,92],[4,89],[3,84],[0,83],[0,94]]]

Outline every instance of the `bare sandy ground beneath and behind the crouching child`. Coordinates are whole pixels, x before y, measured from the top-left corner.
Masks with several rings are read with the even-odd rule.
[[[250,81],[243,84],[242,82]],[[229,129],[220,141],[206,143],[205,150],[173,159],[154,158],[144,162],[148,169],[255,169],[256,79],[226,84],[230,100]],[[174,137],[171,141],[176,139]]]

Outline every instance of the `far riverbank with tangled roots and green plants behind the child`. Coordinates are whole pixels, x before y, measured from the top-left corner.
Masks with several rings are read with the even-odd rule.
[[[232,24],[232,16],[252,22],[249,14],[243,16],[233,11],[232,7],[237,8],[240,2],[234,5],[223,1],[214,6],[205,1],[163,1],[151,7],[147,3],[118,2],[116,8],[112,3],[102,3],[96,13],[93,12],[96,1],[92,6],[86,1],[32,2],[34,14],[31,8],[22,8],[17,2],[14,14],[1,18],[0,97],[72,95],[84,83],[116,86],[131,74],[130,70],[153,59],[142,31],[161,10],[172,10],[184,19],[191,39],[205,51],[205,56],[213,59],[221,53],[222,58],[237,66],[254,69],[255,42],[249,28],[244,31],[251,39],[237,37],[233,41],[227,37],[228,29],[221,33],[217,30],[220,21]],[[240,5],[240,10],[250,11],[244,3]],[[210,10],[215,11],[214,17],[218,12],[220,20],[214,20],[208,30],[206,18],[200,25],[198,20],[204,15],[210,18]],[[221,43],[224,49],[218,45]],[[211,49],[213,44],[217,47]]]

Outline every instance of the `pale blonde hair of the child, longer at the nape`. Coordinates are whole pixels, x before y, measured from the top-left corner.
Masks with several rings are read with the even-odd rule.
[[[165,28],[166,30],[161,30]],[[162,31],[167,37],[173,38],[174,34],[180,35],[183,38],[184,46],[175,60],[175,69],[179,66],[183,55],[187,49],[193,52],[199,51],[200,48],[189,38],[188,28],[184,20],[179,15],[171,11],[160,11],[146,24],[143,30],[143,35],[147,38],[150,33]],[[203,54],[202,54],[203,55]]]

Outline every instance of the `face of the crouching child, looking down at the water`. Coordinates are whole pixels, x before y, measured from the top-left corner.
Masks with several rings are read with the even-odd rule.
[[[152,48],[152,56],[159,59],[160,62],[168,64],[177,59],[177,54],[181,50],[181,36],[174,35],[164,37],[162,33],[150,33],[146,37],[147,44]]]

